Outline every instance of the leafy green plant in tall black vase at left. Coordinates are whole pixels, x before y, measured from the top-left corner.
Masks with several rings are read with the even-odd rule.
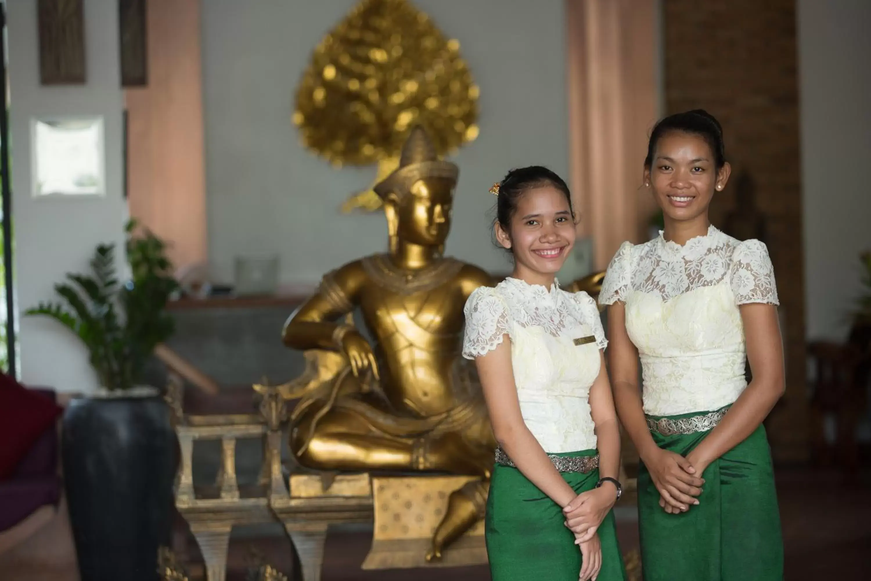
[[[118,280],[115,247],[97,247],[90,274],[55,286],[62,301],[27,311],[51,317],[88,350],[101,388],[64,412],[64,484],[82,581],[153,581],[168,543],[175,435],[159,390],[140,384],[154,348],[173,332],[177,288],[165,244],[126,226],[131,279]]]

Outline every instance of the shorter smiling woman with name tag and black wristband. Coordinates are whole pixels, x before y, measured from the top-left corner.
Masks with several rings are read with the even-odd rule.
[[[611,514],[620,438],[604,330],[590,296],[554,278],[575,241],[569,188],[532,166],[493,192],[496,239],[515,269],[471,294],[463,343],[500,445],[485,519],[491,577],[625,579]]]

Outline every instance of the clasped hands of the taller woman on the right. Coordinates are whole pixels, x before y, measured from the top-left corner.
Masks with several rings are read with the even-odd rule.
[[[701,462],[693,462],[692,454],[684,457],[658,449],[651,458],[645,459],[645,466],[659,491],[659,506],[665,512],[678,514],[699,504],[696,497],[702,493],[705,479],[701,475],[706,466]]]

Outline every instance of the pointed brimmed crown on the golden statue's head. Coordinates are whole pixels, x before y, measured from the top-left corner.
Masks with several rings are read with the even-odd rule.
[[[389,193],[404,196],[418,179],[447,178],[456,183],[459,172],[455,164],[438,159],[436,147],[427,132],[415,125],[402,145],[399,167],[373,189],[382,199]]]

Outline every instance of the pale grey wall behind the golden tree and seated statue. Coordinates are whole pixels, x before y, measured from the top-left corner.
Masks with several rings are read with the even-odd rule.
[[[354,0],[207,0],[202,6],[206,206],[213,274],[233,257],[278,253],[285,284],[387,246],[383,215],[344,215],[374,169],[334,170],[300,146],[294,93],[310,52]],[[488,190],[513,166],[544,164],[568,179],[563,0],[415,0],[456,37],[481,86],[481,135],[460,166],[447,253],[510,268],[492,246]]]

